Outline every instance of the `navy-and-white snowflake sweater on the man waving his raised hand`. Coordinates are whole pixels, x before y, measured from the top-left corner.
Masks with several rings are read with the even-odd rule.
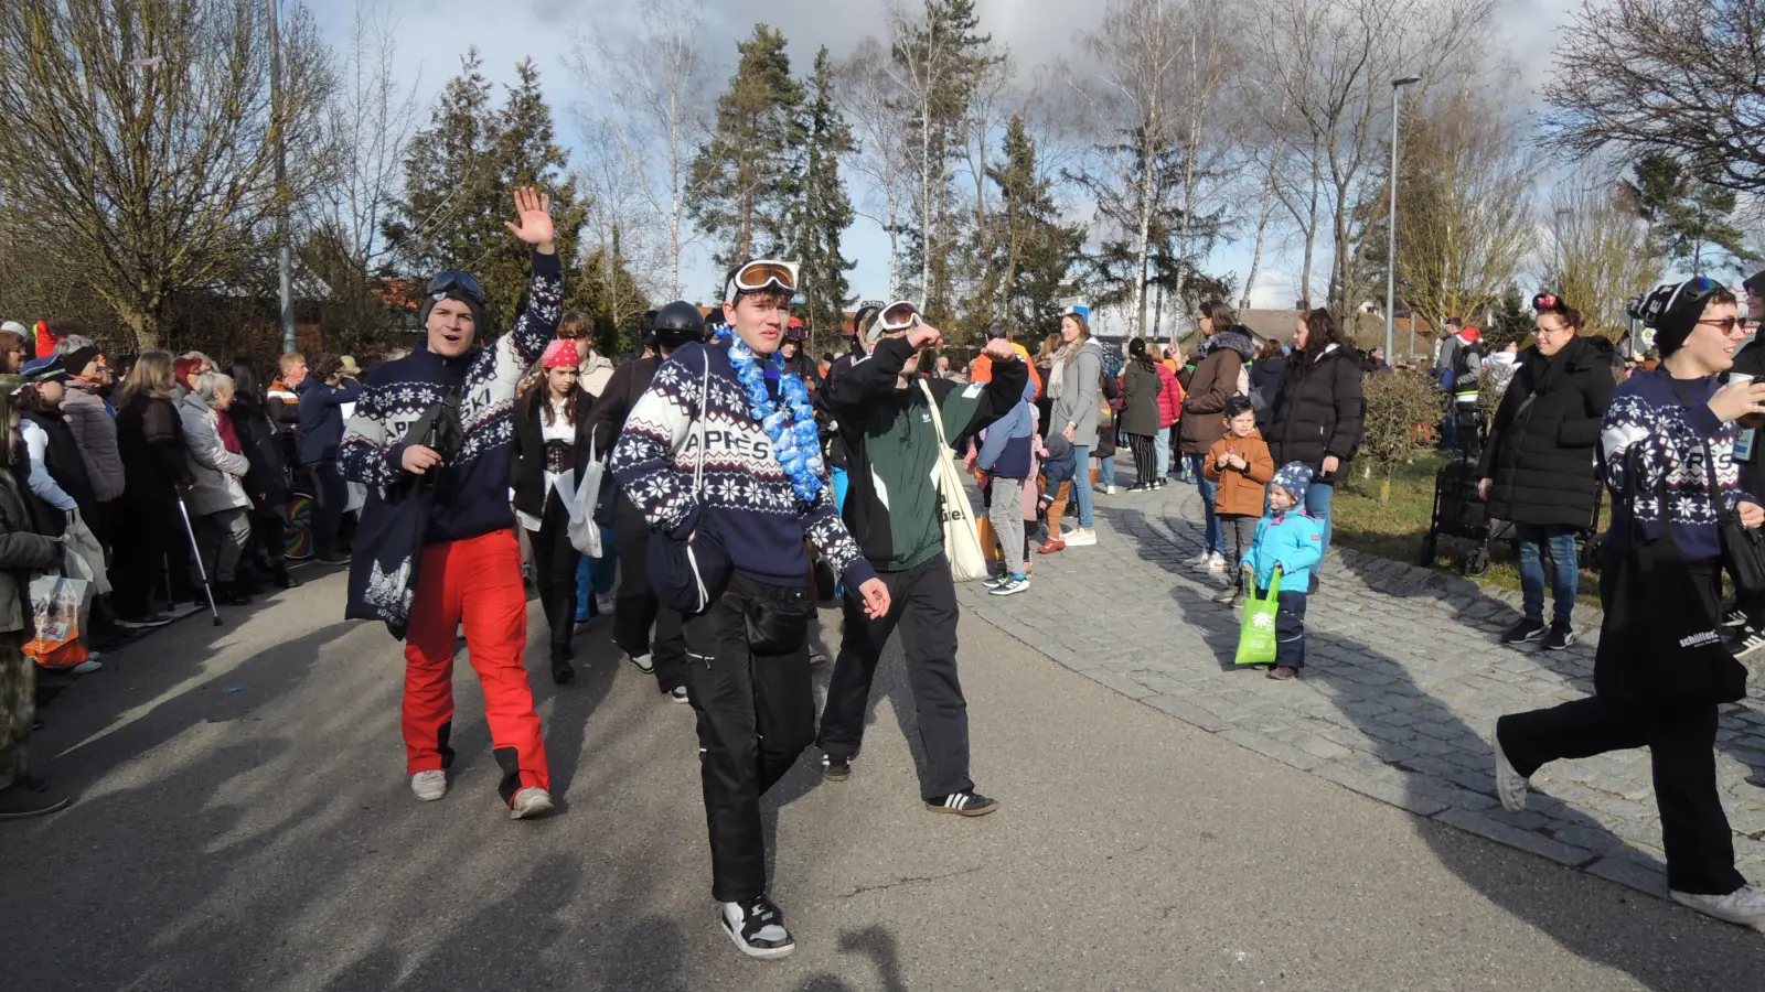
[[[443,358],[418,344],[408,358],[374,365],[337,452],[342,477],[371,487],[401,480],[406,475],[404,434],[459,385],[461,450],[441,473],[424,540],[443,544],[514,528],[508,480],[514,478],[515,387],[558,335],[561,314],[558,256],[533,252],[528,309],[515,319],[515,330],[459,358]],[[364,512],[372,512],[374,505],[371,500]]]

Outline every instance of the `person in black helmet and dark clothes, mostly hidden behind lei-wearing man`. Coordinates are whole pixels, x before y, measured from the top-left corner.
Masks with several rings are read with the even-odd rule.
[[[628,358],[612,371],[595,410],[588,415],[588,429],[595,450],[611,452],[625,418],[632,415],[637,399],[650,390],[657,369],[683,344],[704,341],[704,316],[699,307],[672,302],[655,311],[646,321],[646,332],[655,335],[657,355]],[[664,605],[650,586],[650,521],[642,510],[614,485],[612,537],[620,554],[620,590],[612,607],[612,643],[637,671],[657,676],[657,687],[674,703],[687,703],[687,637],[681,632],[680,611]],[[602,491],[605,492],[605,491]],[[655,625],[655,637],[650,628]]]

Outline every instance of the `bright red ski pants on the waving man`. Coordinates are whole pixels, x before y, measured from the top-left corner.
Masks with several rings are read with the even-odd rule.
[[[484,685],[484,718],[503,770],[503,801],[526,787],[551,789],[540,715],[524,664],[528,595],[521,586],[521,545],[503,530],[431,544],[417,574],[417,598],[404,643],[406,770],[434,771],[454,763],[454,635],[466,627],[466,651]]]

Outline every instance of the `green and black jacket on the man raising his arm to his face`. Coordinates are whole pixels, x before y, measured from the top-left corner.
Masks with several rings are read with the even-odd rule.
[[[875,351],[828,376],[822,401],[840,424],[847,457],[845,530],[879,572],[902,572],[944,551],[937,503],[937,427],[916,378],[898,388],[913,346],[902,337],[879,341]],[[1029,367],[1022,358],[994,362],[990,383],[927,380],[944,420],[944,436],[958,445],[999,420],[1024,399]]]

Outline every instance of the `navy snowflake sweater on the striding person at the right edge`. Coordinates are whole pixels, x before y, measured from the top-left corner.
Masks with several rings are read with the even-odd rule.
[[[1606,484],[1611,487],[1606,549],[1629,547],[1638,528],[1650,540],[1661,537],[1661,515],[1671,514],[1679,549],[1693,561],[1709,561],[1723,554],[1714,500],[1723,500],[1730,510],[1740,501],[1758,500],[1740,491],[1735,422],[1717,420],[1709,406],[1717,390],[1716,380],[1680,380],[1679,390],[1673,387],[1666,367],[1661,367],[1631,376],[1611,394],[1601,424]],[[1716,455],[1714,487],[1705,445]]]

